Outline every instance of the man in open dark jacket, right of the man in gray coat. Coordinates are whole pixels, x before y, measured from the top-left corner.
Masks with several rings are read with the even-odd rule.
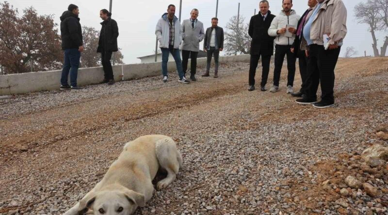
[[[209,77],[211,57],[214,56],[214,78],[218,78],[218,57],[224,49],[224,29],[218,27],[218,18],[211,18],[211,27],[206,29],[203,50],[208,53],[206,73],[202,77]]]

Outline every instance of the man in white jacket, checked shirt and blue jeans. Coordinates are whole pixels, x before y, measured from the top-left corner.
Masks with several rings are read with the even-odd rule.
[[[155,34],[158,37],[160,43],[159,47],[162,50],[163,82],[167,82],[167,62],[168,56],[171,53],[177,65],[179,75],[178,81],[184,84],[190,84],[190,81],[186,80],[183,73],[182,60],[179,52],[183,31],[177,16],[175,16],[175,6],[173,4],[168,5],[167,13],[163,14],[162,18],[159,19],[158,24],[156,25]]]

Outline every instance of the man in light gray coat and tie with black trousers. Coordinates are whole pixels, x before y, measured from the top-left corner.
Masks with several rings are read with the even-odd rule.
[[[190,19],[183,20],[183,44],[182,44],[182,66],[183,73],[186,76],[187,64],[191,58],[190,79],[196,81],[195,72],[197,67],[197,56],[199,52],[199,42],[205,37],[203,23],[198,21],[198,9],[193,9],[190,13]]]

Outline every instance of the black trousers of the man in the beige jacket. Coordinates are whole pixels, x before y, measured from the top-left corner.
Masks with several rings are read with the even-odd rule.
[[[324,50],[323,45],[309,46],[309,60],[307,61],[307,77],[311,77],[307,86],[307,98],[315,100],[321,82],[321,99],[327,104],[334,104],[334,69],[336,68],[341,48]]]

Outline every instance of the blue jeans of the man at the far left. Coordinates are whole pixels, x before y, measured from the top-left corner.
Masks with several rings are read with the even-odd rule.
[[[67,76],[70,72],[70,85],[77,86],[78,67],[80,66],[81,52],[77,48],[65,49],[65,60],[62,69],[61,85],[67,86]]]

